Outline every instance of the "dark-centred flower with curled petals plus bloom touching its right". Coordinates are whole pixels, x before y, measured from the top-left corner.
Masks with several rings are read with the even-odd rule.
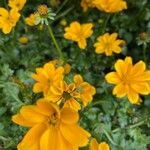
[[[95,93],[95,88],[83,81],[81,75],[75,75],[74,83],[67,84],[65,81],[59,81],[53,84],[46,95],[46,99],[64,103],[64,107],[70,107],[78,111],[81,109],[80,102],[87,106]]]

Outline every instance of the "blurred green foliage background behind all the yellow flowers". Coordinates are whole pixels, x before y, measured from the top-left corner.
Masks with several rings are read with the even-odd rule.
[[[97,89],[93,102],[80,111],[81,125],[99,142],[108,142],[111,150],[150,149],[150,96],[141,97],[143,102],[139,106],[130,104],[126,98],[118,100],[104,79],[105,74],[113,70],[115,61],[125,56],[132,56],[135,62],[144,60],[150,69],[150,1],[128,0],[127,3],[126,11],[108,18],[108,14],[96,9],[83,13],[80,0],[27,1],[13,31],[9,35],[0,33],[1,150],[15,150],[26,130],[13,124],[11,116],[22,105],[32,104],[40,96],[32,92],[31,74],[36,67],[57,58],[46,27],[28,27],[24,22],[39,4],[47,4],[57,13],[50,23],[66,62],[72,66],[72,74],[80,73]],[[7,7],[7,1],[0,1],[0,6]],[[75,20],[94,23],[94,33],[83,51],[63,38],[64,27]],[[106,20],[105,32],[117,32],[126,41],[123,51],[111,57],[97,55],[93,48],[96,38],[104,32]],[[27,44],[19,42],[23,35],[28,37]]]

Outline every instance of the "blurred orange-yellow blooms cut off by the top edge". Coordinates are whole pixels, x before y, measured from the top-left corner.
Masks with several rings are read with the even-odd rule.
[[[95,7],[106,13],[115,13],[127,9],[127,3],[123,0],[82,0],[81,7],[83,11]]]

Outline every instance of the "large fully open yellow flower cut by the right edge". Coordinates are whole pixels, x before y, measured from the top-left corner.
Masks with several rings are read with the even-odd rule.
[[[132,64],[132,58],[126,57],[125,60],[117,60],[115,63],[116,72],[106,75],[108,83],[116,84],[113,94],[118,98],[127,96],[133,104],[140,103],[139,94],[148,95],[150,92],[150,71],[146,71],[143,61]]]

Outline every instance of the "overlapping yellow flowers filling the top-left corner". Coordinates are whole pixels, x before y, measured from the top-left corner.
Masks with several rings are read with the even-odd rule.
[[[20,13],[26,0],[9,0],[8,6],[10,9],[0,7],[0,29],[4,34],[11,32],[12,28],[16,26]]]

